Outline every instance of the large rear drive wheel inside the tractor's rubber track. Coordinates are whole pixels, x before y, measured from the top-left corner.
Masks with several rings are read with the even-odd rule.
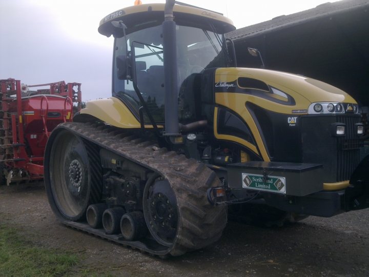
[[[100,196],[96,147],[67,130],[58,130],[48,141],[45,165],[45,186],[54,212],[71,221],[81,219]]]

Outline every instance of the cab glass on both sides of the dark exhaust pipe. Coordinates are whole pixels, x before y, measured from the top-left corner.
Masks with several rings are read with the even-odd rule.
[[[136,84],[157,123],[164,122],[165,105],[161,33],[162,26],[158,25],[130,33],[126,38],[116,38],[114,53],[115,57],[126,55],[127,48],[128,51],[134,53]],[[206,68],[227,66],[225,51],[222,50],[223,35],[210,30],[177,25],[176,39],[179,94],[181,91],[183,92],[183,86],[186,86],[192,76],[198,75]],[[118,79],[116,65],[114,65],[113,71],[113,95],[122,98],[122,100],[130,97],[137,103],[137,106],[141,106],[132,82]],[[179,116],[185,119],[194,116],[191,112],[186,114],[183,109],[180,109],[179,112]],[[147,116],[144,117],[145,122],[148,122]]]

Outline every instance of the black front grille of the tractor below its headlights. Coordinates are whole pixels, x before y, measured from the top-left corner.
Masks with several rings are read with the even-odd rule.
[[[355,124],[360,122],[360,117],[344,115],[336,117],[337,123],[346,125],[346,135],[337,140],[337,178],[336,181],[349,180],[351,174],[360,162],[360,147],[362,140],[357,136]]]

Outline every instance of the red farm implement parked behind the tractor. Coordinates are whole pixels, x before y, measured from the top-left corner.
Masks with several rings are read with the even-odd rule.
[[[73,108],[80,110],[80,85],[61,81],[27,86],[11,78],[0,80],[1,185],[43,178],[49,134],[59,123],[72,121]]]

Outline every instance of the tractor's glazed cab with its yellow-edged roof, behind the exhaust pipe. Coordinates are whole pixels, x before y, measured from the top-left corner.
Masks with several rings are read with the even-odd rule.
[[[100,33],[115,37],[112,94],[146,124],[150,115],[155,123],[165,122],[164,10],[164,4],[130,7],[105,17],[99,28]],[[189,123],[198,120],[200,113],[195,105],[200,73],[231,63],[223,33],[234,27],[221,14],[194,7],[175,5],[173,13],[176,61],[171,63],[176,64],[177,82],[172,93],[178,99],[179,122]],[[140,116],[142,104],[147,109],[142,108]]]

